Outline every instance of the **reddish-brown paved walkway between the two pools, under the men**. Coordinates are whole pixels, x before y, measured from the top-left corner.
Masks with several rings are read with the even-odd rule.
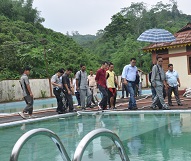
[[[170,107],[171,110],[191,110],[191,98],[186,98],[186,97],[180,97],[180,98],[181,98],[181,101],[183,103],[183,106],[178,106],[176,104],[175,99],[172,99],[174,106]],[[138,110],[136,110],[136,111],[152,110],[150,108],[151,102],[152,102],[152,100],[150,97],[137,98]],[[116,104],[117,109],[115,111],[127,110],[127,106],[128,106],[128,98],[118,99],[117,104]],[[55,108],[43,109],[43,110],[34,111],[33,113],[35,116],[37,116],[37,118],[41,118],[41,117],[46,117],[46,116],[58,115],[55,110],[56,110]],[[76,110],[81,111],[80,108],[76,108]],[[85,111],[86,112],[98,111],[98,107],[94,107],[91,109],[89,108],[89,109],[86,109]],[[161,111],[161,110],[154,110],[154,111],[157,112],[157,111]],[[33,119],[35,119],[35,118],[33,118]],[[14,122],[14,121],[21,121],[21,120],[23,120],[23,118],[21,118],[21,116],[17,113],[0,115],[0,124],[10,123],[10,122]]]

